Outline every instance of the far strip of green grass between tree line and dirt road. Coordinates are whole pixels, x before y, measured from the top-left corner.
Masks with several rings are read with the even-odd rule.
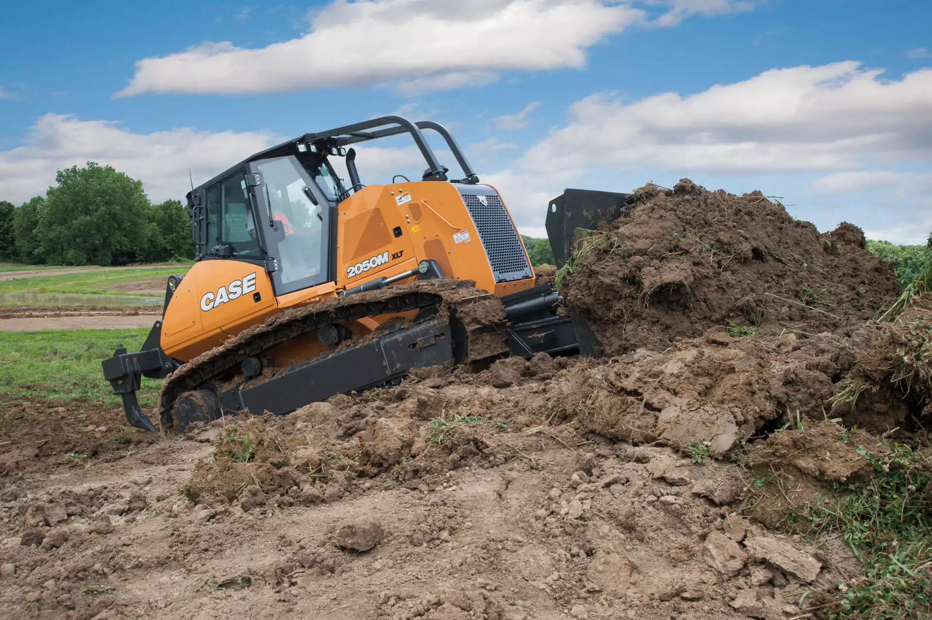
[[[77,293],[83,295],[131,295],[137,297],[161,297],[164,293],[139,293],[115,291],[113,287],[150,277],[184,275],[188,267],[139,267],[133,269],[107,269],[79,274],[18,277],[0,282],[0,293]]]

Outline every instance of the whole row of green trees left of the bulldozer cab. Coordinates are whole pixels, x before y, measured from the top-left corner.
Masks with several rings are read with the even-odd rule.
[[[163,263],[194,258],[178,200],[152,204],[143,182],[88,162],[19,207],[0,201],[0,260],[30,264]]]

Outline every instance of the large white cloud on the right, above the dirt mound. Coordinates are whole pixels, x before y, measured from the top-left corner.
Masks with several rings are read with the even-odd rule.
[[[594,166],[779,172],[932,157],[932,70],[880,79],[855,61],[773,69],[694,95],[596,94],[528,151],[534,172]]]

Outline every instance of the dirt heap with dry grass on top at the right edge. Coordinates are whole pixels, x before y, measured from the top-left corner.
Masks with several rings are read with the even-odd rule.
[[[876,432],[928,424],[932,415],[932,293],[912,298],[861,351],[831,414]]]

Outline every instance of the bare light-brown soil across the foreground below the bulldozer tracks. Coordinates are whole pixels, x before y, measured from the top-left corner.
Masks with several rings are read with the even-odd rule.
[[[835,587],[816,547],[735,514],[739,466],[558,422],[566,365],[425,371],[26,471],[0,495],[7,613],[786,618]]]

